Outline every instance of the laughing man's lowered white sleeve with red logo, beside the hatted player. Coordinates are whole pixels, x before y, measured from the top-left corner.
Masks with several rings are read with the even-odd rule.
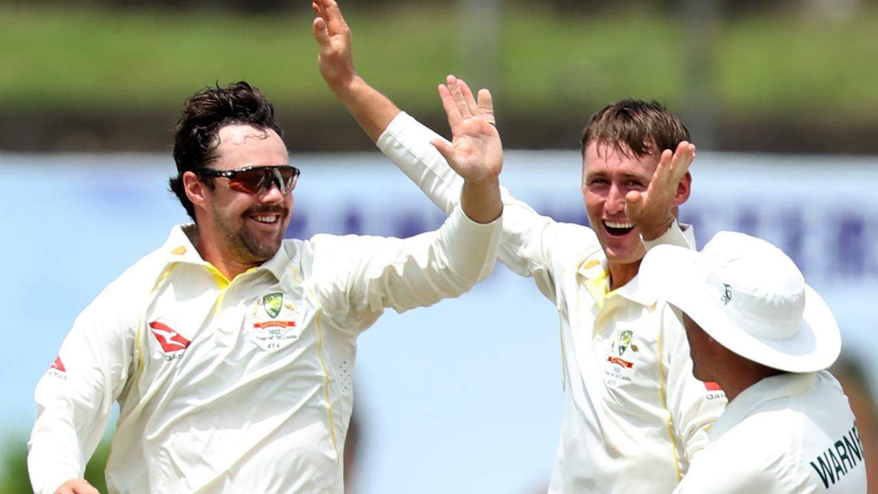
[[[686,464],[708,444],[707,431],[723,410],[725,393],[714,383],[695,379],[686,330],[671,306],[660,302],[662,311],[661,359],[667,369],[667,406],[674,432],[680,439]]]

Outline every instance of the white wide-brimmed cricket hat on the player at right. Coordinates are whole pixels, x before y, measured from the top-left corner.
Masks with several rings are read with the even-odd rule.
[[[841,351],[829,307],[793,260],[765,240],[722,231],[701,252],[659,245],[638,279],[720,345],[767,367],[814,372]]]

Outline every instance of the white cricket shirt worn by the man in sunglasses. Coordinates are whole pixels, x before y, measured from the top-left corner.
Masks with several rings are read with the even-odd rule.
[[[342,492],[356,337],[493,268],[501,220],[284,240],[227,280],[176,227],[85,309],[36,389],[34,490],[83,476],[120,405],[111,492]]]

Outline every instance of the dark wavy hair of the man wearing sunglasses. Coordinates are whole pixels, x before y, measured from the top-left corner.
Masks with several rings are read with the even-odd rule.
[[[284,135],[275,122],[274,106],[258,89],[244,81],[226,87],[207,87],[189,97],[174,127],[176,177],[169,180],[186,213],[195,220],[195,208],[186,196],[183,174],[205,168],[217,159],[217,133],[230,124],[247,124]],[[212,187],[212,181],[205,182]]]

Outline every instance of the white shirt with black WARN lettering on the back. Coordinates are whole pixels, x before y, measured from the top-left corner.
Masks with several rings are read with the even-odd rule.
[[[676,494],[866,493],[847,396],[827,371],[779,374],[735,396]]]

